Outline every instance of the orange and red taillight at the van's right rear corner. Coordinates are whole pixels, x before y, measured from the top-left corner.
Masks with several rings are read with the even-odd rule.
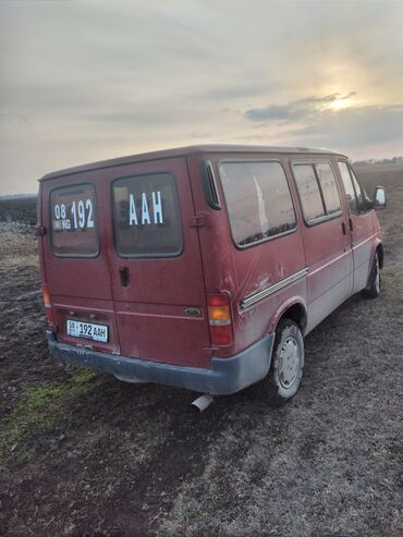
[[[229,295],[227,293],[208,294],[207,306],[211,345],[230,345],[232,343],[232,318]]]

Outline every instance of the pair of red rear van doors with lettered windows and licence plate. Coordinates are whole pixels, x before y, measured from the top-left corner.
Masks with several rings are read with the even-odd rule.
[[[57,340],[210,367],[185,158],[56,176],[41,183],[40,196],[41,258]]]

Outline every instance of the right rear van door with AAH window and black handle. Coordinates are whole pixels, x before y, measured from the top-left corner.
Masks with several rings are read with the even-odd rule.
[[[209,367],[206,293],[185,158],[112,171],[108,210],[122,355]]]

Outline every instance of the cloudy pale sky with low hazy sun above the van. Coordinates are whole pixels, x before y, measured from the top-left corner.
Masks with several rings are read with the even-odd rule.
[[[0,0],[0,195],[204,143],[403,155],[403,1]]]

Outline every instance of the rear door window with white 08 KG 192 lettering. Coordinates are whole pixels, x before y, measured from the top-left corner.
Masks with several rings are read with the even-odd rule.
[[[99,253],[95,190],[91,184],[50,193],[51,248],[57,256],[95,257]]]

